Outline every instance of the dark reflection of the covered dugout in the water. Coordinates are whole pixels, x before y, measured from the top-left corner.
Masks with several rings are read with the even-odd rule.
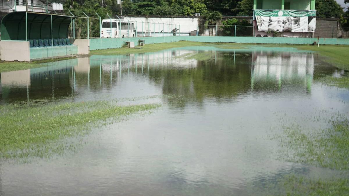
[[[46,63],[45,67],[1,73],[0,100],[29,101],[71,95],[70,73],[76,59]]]

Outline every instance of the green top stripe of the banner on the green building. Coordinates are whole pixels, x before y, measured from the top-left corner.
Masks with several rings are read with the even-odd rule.
[[[255,9],[254,15],[255,16],[291,16],[291,17],[316,16],[316,10]]]

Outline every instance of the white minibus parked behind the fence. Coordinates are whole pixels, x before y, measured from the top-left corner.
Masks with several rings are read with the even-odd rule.
[[[110,22],[111,22],[111,25],[110,25]],[[134,28],[133,22],[124,22],[117,19],[103,19],[101,34],[102,34],[102,38],[134,37],[135,28]]]

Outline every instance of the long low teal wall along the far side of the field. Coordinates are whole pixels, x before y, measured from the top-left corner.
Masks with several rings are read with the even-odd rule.
[[[251,44],[313,44],[318,38],[298,37],[223,37],[223,36],[177,36],[177,37],[144,37],[144,38],[102,38],[90,39],[90,50],[101,50],[107,48],[120,48],[124,42],[145,40],[146,44],[170,43],[178,41],[207,42],[207,43],[251,43]],[[349,45],[349,39],[320,38],[320,45]],[[31,52],[31,51],[30,51]],[[31,56],[31,53],[30,53]]]

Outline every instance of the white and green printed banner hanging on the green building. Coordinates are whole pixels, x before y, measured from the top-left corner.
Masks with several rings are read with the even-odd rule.
[[[314,32],[316,10],[255,9],[258,31]]]

